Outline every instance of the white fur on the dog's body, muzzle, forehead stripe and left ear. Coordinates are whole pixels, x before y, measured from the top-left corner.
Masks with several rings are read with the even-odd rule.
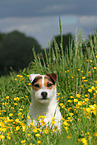
[[[39,74],[38,74],[39,75]],[[30,75],[31,82],[34,80],[34,78],[38,75]],[[44,75],[42,76],[42,83],[44,84]],[[58,130],[61,128],[61,113],[58,109],[58,103],[56,98],[57,89],[47,89],[42,84],[42,88],[38,91],[31,90],[31,104],[30,104],[30,111],[28,113],[28,116],[31,115],[33,118],[33,122],[36,125],[37,124],[37,117],[40,116],[46,116],[44,119],[45,123],[51,123],[52,118],[55,117],[55,126],[58,126]],[[47,92],[47,99],[42,100],[41,93]],[[30,126],[30,123],[32,122],[31,119],[27,120],[28,125]]]

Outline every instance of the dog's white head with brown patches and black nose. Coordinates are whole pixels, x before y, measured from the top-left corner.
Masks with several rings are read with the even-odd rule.
[[[57,74],[31,74],[30,81],[34,99],[40,103],[48,103],[56,96]]]

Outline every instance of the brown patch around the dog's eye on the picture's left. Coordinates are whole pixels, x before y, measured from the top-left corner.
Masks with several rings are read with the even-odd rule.
[[[36,91],[42,88],[42,77],[38,76],[32,82],[32,88]]]

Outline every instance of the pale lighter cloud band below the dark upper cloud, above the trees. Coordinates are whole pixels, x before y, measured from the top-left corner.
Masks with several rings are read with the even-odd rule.
[[[97,28],[97,16],[75,16],[63,15],[61,16],[63,27],[63,34],[71,32],[74,34],[76,28],[78,32],[86,36]],[[53,36],[60,34],[59,17],[45,16],[45,17],[25,17],[25,18],[1,18],[0,31],[11,32],[19,30],[27,36],[35,37],[42,47],[47,48]]]

